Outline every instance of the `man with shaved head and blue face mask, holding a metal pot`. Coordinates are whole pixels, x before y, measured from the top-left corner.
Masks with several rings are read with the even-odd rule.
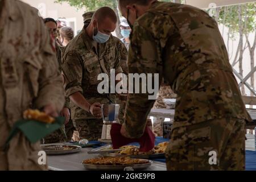
[[[100,94],[97,80],[100,73],[110,78],[110,69],[122,73],[120,53],[111,32],[117,16],[109,7],[101,7],[89,24],[64,49],[61,68],[65,93],[71,99],[71,117],[80,138],[101,138],[101,105],[115,103],[114,94]],[[110,79],[109,79],[110,80]]]

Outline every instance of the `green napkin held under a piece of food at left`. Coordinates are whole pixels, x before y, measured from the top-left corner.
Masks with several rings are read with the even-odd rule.
[[[53,131],[59,129],[62,125],[64,125],[64,121],[64,117],[55,118],[55,122],[52,124],[34,120],[20,119],[15,123],[13,129],[11,130],[9,137],[6,140],[6,146],[9,144],[10,140],[18,133],[18,131],[21,131],[31,143],[36,143],[40,139],[53,133]]]

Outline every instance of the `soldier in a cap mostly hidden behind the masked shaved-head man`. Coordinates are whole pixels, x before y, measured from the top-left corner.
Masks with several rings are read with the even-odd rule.
[[[89,11],[85,14],[82,15],[82,17],[84,18],[84,25],[87,27],[90,23],[90,21],[92,20],[92,16],[93,13],[95,11]],[[121,64],[121,68],[123,70],[123,73],[128,76],[128,65],[127,65],[127,56],[128,56],[128,52],[127,49],[125,47],[125,44],[122,43],[121,40],[119,40],[118,38],[116,38],[115,36],[113,36],[113,39],[115,41],[115,47],[117,49],[117,52],[119,52],[120,55],[120,64]],[[117,94],[117,98],[116,98],[116,102],[117,104],[120,105],[119,108],[119,122],[123,123],[124,122],[124,116],[125,116],[125,107],[126,107],[126,94]]]

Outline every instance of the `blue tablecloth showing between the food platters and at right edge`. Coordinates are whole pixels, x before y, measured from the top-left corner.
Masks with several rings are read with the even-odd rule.
[[[169,139],[162,138],[162,137],[156,137],[155,139],[155,145],[158,145],[161,142],[168,142]],[[97,142],[90,142],[90,143],[97,143]],[[138,143],[131,143],[135,146],[138,146]],[[155,161],[158,162],[166,162],[166,159],[154,159]],[[245,169],[246,171],[256,171],[256,151],[249,151],[246,150],[246,155],[245,155]]]

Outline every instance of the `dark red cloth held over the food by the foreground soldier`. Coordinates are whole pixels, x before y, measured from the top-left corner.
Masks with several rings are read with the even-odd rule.
[[[110,135],[112,138],[112,144],[114,149],[117,149],[119,147],[125,146],[126,144],[133,142],[139,143],[139,151],[141,152],[148,152],[155,147],[155,135],[148,126],[146,126],[144,134],[142,135],[141,138],[133,139],[123,137],[123,135],[120,133],[121,127],[122,125],[118,123],[113,123],[110,130]]]

